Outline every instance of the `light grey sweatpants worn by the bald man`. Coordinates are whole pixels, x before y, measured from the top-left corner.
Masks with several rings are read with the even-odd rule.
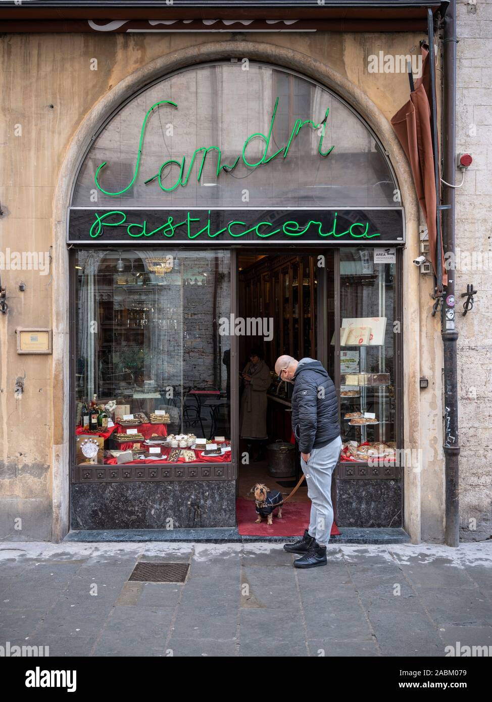
[[[326,446],[312,449],[307,463],[300,457],[300,466],[307,482],[307,495],[311,500],[310,526],[307,531],[321,546],[328,545],[330,541],[333,524],[331,475],[341,448],[342,439],[338,436]]]

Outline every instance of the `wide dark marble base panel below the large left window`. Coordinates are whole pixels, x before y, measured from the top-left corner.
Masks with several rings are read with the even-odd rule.
[[[234,480],[74,483],[71,529],[234,527]]]

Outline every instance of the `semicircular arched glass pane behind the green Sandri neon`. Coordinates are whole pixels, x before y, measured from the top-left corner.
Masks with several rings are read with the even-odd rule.
[[[182,70],[122,105],[84,157],[72,206],[399,207],[396,192],[380,143],[343,100],[238,61]]]

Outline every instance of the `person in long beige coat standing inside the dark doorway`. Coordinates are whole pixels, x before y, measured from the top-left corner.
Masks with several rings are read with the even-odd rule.
[[[241,399],[241,438],[248,442],[248,453],[253,461],[261,461],[265,449],[267,435],[267,390],[270,388],[272,378],[270,369],[260,357],[260,352],[251,350],[249,362],[244,366],[242,373],[244,392]],[[258,453],[253,457],[253,444],[258,447]]]

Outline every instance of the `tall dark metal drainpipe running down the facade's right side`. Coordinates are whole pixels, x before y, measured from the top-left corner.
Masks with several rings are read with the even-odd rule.
[[[444,90],[443,90],[443,180],[455,184],[456,173],[456,0],[451,0],[443,21]],[[443,184],[442,211],[444,251],[455,251],[455,192]],[[448,270],[448,286],[441,308],[441,336],[444,345],[444,458],[446,466],[446,545],[460,543],[458,502],[458,370],[456,363],[458,331],[456,331],[454,289],[456,270]]]

